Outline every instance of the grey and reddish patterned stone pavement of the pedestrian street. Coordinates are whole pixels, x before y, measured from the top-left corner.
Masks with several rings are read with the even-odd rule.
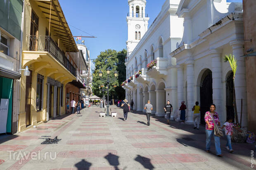
[[[116,118],[100,118],[101,109],[92,106],[81,115],[64,115],[25,132],[0,138],[0,170],[249,170],[254,145],[232,144],[223,158],[205,152],[204,127],[152,116],[147,126],[142,112],[128,113],[116,106]],[[40,144],[58,136],[58,144]],[[23,157],[23,158],[22,158]]]

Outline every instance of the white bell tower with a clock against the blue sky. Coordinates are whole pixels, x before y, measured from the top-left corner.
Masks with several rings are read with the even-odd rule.
[[[146,0],[128,0],[129,13],[126,17],[128,26],[128,40],[126,41],[128,56],[147,31],[149,18],[145,14],[146,2]]]

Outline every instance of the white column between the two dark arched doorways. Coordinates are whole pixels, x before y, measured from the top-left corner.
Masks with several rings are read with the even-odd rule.
[[[210,50],[212,68],[213,103],[220,115],[220,120],[226,120],[223,114],[222,83],[221,83],[221,54],[216,50]],[[224,121],[225,122],[225,121]]]

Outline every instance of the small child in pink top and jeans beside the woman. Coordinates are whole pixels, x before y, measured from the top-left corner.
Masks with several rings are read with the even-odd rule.
[[[231,136],[233,134],[233,127],[235,127],[232,123],[232,118],[229,117],[227,119],[227,121],[224,123],[224,125],[221,127],[221,129],[223,129],[225,127],[225,135],[227,136],[227,144],[226,144],[226,148],[230,151],[230,153],[232,153],[234,150],[232,149],[231,146]],[[237,127],[235,127],[236,130],[238,130],[239,132],[242,132],[242,130],[239,130]]]

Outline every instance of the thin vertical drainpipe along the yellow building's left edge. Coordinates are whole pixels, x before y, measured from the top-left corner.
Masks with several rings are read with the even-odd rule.
[[[19,69],[21,69],[21,62],[22,62],[24,12],[25,12],[25,1],[23,2],[23,10],[22,10],[22,18],[21,18],[21,44],[20,44],[20,49],[19,49]],[[21,86],[21,78],[18,80],[17,132],[19,130],[20,86]]]

